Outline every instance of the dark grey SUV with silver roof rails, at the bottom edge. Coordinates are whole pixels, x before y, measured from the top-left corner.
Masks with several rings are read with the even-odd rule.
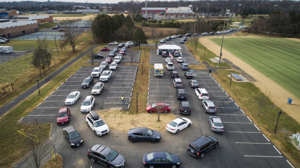
[[[125,158],[113,149],[103,145],[94,145],[88,150],[88,158],[91,162],[101,163],[108,167],[120,168],[125,164]]]

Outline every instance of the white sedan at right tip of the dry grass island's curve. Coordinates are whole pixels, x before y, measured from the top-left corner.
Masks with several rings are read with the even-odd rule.
[[[178,134],[179,131],[185,129],[186,127],[190,127],[192,121],[187,118],[176,118],[167,124],[166,129],[172,133]]]

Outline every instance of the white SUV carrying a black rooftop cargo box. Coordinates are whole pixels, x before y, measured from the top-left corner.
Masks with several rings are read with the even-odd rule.
[[[94,111],[89,111],[89,114],[85,117],[86,125],[90,127],[94,134],[101,136],[110,132],[110,129],[106,125],[99,115]]]

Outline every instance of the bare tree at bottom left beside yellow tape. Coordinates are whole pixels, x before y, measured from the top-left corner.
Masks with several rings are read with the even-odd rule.
[[[43,160],[51,155],[50,151],[54,143],[49,140],[48,132],[42,132],[38,124],[24,124],[22,131],[18,131],[24,136],[22,141],[29,152],[26,163],[32,168],[40,168]]]

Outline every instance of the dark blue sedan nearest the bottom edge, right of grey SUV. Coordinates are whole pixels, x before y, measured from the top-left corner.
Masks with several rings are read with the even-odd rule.
[[[149,168],[176,168],[180,167],[180,159],[174,153],[151,152],[144,154],[143,164]]]

